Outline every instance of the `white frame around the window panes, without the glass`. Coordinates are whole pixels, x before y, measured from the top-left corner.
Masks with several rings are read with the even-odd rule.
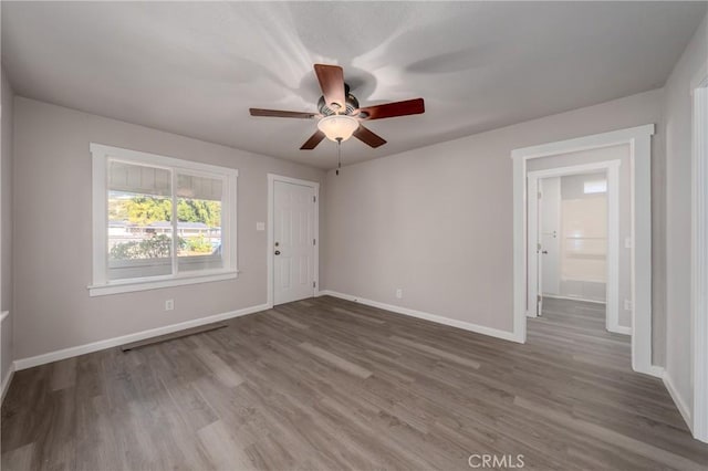
[[[88,285],[90,296],[128,293],[134,291],[156,290],[159,287],[179,286],[185,284],[208,283],[212,281],[230,280],[238,276],[237,268],[237,180],[238,170],[215,165],[183,160],[156,154],[124,149],[91,143],[93,166],[93,283]],[[108,159],[123,160],[129,164],[147,165],[169,168],[173,170],[173,191],[177,172],[187,175],[220,176],[223,178],[223,205],[221,211],[221,254],[223,268],[196,272],[177,272],[162,276],[133,278],[125,280],[108,280],[108,231],[107,231],[107,196]],[[173,266],[176,258],[173,258]]]

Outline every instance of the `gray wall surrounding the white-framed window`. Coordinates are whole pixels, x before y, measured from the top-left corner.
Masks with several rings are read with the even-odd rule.
[[[267,220],[267,174],[324,179],[310,167],[22,97],[14,117],[15,358],[266,303],[267,232],[256,222]],[[91,142],[238,168],[239,278],[90,297]],[[174,311],[164,311],[167,299]]]

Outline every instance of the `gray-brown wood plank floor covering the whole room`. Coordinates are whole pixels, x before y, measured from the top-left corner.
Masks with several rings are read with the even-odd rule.
[[[604,306],[544,306],[520,345],[323,296],[17,371],[2,469],[708,469]]]

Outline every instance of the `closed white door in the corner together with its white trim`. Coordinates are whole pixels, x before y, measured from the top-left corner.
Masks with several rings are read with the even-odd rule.
[[[314,297],[319,282],[320,185],[268,176],[268,303]]]

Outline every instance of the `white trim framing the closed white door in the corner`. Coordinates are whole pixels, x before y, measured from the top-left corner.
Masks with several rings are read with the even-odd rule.
[[[314,233],[316,243],[314,244],[314,284],[312,295],[319,295],[320,290],[320,184],[317,181],[301,180],[299,178],[283,177],[282,175],[268,174],[268,244],[266,247],[266,261],[268,264],[266,286],[268,286],[268,304],[273,306],[273,243],[274,243],[274,213],[273,205],[275,203],[274,190],[275,181],[285,184],[302,185],[310,187],[314,191]]]

